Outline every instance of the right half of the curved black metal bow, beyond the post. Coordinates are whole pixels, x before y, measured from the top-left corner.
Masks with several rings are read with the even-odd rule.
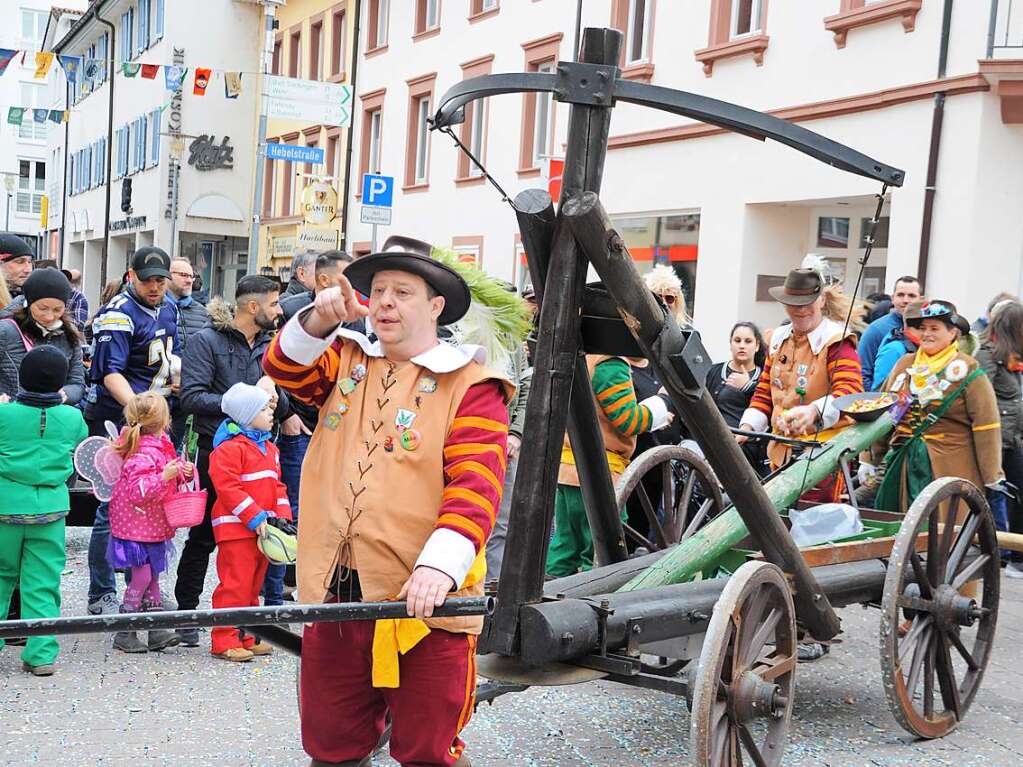
[[[681,115],[753,138],[770,138],[830,166],[877,179],[889,186],[901,186],[905,178],[904,171],[869,157],[819,133],[727,101],[629,80],[615,82],[615,98]]]

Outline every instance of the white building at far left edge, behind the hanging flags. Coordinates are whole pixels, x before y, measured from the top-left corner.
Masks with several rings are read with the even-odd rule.
[[[21,51],[0,76],[0,227],[25,238],[40,257],[46,253],[41,215],[50,176],[46,141],[54,124],[35,122],[32,108],[48,106],[47,81],[35,77],[35,51],[42,48],[52,4],[50,0],[11,0],[0,25],[0,48]],[[50,72],[49,80],[58,78]],[[30,107],[20,126],[7,123],[10,106]]]

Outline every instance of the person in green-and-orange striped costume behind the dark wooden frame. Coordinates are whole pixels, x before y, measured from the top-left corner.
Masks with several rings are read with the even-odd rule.
[[[596,417],[604,436],[612,481],[617,481],[636,446],[636,435],[656,432],[671,422],[672,415],[659,395],[636,400],[632,368],[623,357],[586,356]],[[547,575],[573,575],[593,567],[593,539],[579,490],[579,473],[568,437],[562,448],[554,496],[554,535],[547,550]]]

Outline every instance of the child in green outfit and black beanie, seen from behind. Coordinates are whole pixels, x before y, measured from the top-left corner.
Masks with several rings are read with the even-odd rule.
[[[20,580],[21,617],[60,615],[64,517],[71,509],[68,478],[73,454],[89,434],[77,408],[62,404],[68,378],[63,352],[40,346],[18,369],[14,402],[0,405],[0,615]],[[0,640],[0,647],[4,644]],[[59,645],[52,636],[29,637],[21,667],[53,673]]]

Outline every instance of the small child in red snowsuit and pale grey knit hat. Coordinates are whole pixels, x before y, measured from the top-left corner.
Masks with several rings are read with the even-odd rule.
[[[260,587],[269,560],[256,545],[269,520],[291,521],[287,488],[280,481],[280,456],[271,441],[273,408],[266,390],[235,384],[221,401],[227,418],[213,438],[210,479],[217,491],[213,534],[217,541],[214,607],[259,604]],[[236,628],[212,631],[212,652],[225,661],[251,661],[273,648]]]

